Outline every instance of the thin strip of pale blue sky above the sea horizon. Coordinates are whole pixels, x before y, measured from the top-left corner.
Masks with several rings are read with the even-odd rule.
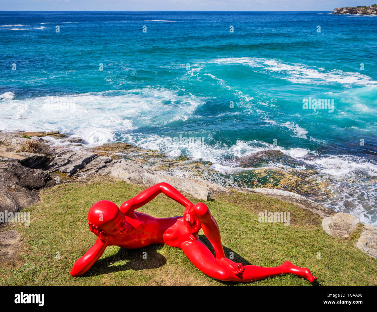
[[[11,11],[332,11],[365,0],[1,0]],[[368,0],[366,0],[368,1]],[[374,0],[377,2],[377,0]]]

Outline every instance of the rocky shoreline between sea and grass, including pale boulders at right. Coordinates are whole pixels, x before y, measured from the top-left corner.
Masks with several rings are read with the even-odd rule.
[[[30,140],[48,145],[49,152],[23,151],[25,143]],[[62,143],[64,145],[61,145]],[[264,153],[273,153],[274,157],[286,157],[279,151]],[[260,159],[258,155],[247,156],[239,160],[239,164],[250,168]],[[286,161],[290,162],[291,159]],[[189,170],[196,178],[174,176],[173,171],[177,168]],[[357,217],[345,213],[336,214],[333,210],[291,191],[266,187],[235,188],[201,178],[201,174],[208,175],[214,171],[209,162],[192,160],[186,156],[170,159],[160,151],[126,143],[115,142],[86,148],[83,139],[69,138],[59,132],[0,132],[0,213],[5,210],[8,213],[17,213],[35,205],[39,200],[38,190],[41,188],[52,187],[57,183],[90,182],[100,177],[109,177],[146,188],[159,182],[167,182],[178,191],[204,201],[232,191],[275,197],[318,214],[323,218],[323,229],[330,235],[347,237],[360,223]],[[263,171],[260,174],[263,176]],[[264,174],[264,179],[270,180],[270,177]],[[366,225],[357,242],[360,250],[375,258],[376,229],[375,226]],[[0,237],[0,250],[6,244]]]

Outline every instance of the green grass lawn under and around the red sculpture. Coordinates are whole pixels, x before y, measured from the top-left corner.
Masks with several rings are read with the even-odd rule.
[[[12,223],[1,229],[17,230],[24,240],[14,260],[0,263],[0,285],[311,285],[291,274],[254,283],[217,281],[196,269],[180,249],[167,245],[136,250],[111,246],[86,274],[71,277],[69,271],[75,260],[96,239],[87,225],[90,206],[102,199],[120,205],[142,190],[109,180],[43,190],[42,201],[24,210],[31,213],[30,226]],[[291,261],[309,268],[321,285],[377,284],[377,259],[355,247],[358,235],[349,239],[329,236],[322,229],[320,217],[310,211],[270,197],[242,193],[219,196],[207,205],[219,224],[225,254],[233,251],[237,262],[278,266]],[[266,209],[289,211],[290,226],[259,223],[258,212]],[[138,211],[170,217],[182,215],[183,210],[160,194]],[[202,231],[199,235],[210,246]],[[142,257],[144,251],[147,259]],[[60,258],[55,258],[56,252]]]

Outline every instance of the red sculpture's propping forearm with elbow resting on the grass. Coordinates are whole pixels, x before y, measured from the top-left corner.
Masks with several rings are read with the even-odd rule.
[[[83,275],[101,257],[107,246],[107,240],[97,238],[90,249],[73,265],[70,274],[72,276]]]

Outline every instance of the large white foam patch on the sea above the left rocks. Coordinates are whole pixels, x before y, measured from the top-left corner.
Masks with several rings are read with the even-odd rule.
[[[7,92],[2,97],[0,106],[7,106],[0,116],[2,130],[58,130],[81,136],[89,144],[112,141],[115,133],[138,127],[162,127],[186,120],[205,102],[205,98],[163,88],[22,100],[12,100],[14,94]]]

